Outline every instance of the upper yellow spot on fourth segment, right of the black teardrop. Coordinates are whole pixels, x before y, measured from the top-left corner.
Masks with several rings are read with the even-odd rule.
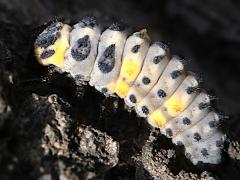
[[[121,67],[121,75],[128,82],[134,81],[141,70],[140,68],[141,67],[134,63],[133,60],[124,60]]]

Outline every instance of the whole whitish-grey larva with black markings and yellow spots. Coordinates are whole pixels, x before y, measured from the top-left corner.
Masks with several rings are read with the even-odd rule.
[[[145,29],[127,38],[119,24],[101,32],[94,18],[85,17],[72,29],[51,24],[34,47],[40,64],[53,64],[104,94],[124,98],[174,144],[184,145],[193,164],[221,161],[224,135],[209,96],[179,57],[170,58],[165,44],[150,45]]]

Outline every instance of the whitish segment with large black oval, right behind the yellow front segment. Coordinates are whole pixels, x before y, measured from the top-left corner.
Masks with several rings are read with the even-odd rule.
[[[70,33],[70,48],[66,52],[64,70],[75,78],[89,81],[100,35],[95,19],[87,17],[75,24]]]

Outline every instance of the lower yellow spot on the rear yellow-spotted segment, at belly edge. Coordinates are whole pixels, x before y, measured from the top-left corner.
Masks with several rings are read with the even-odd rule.
[[[157,127],[163,127],[167,122],[166,117],[159,109],[150,114],[148,120]]]

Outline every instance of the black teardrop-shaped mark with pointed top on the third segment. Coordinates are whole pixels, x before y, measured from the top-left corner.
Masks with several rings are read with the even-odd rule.
[[[108,46],[98,60],[99,70],[106,74],[113,70],[115,65],[115,44]]]

